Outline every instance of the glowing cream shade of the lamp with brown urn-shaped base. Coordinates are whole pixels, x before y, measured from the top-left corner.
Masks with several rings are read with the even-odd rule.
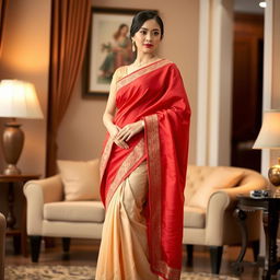
[[[43,118],[34,85],[19,80],[2,80],[0,117]]]

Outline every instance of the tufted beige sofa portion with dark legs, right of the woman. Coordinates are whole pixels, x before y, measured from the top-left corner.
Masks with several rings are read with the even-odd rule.
[[[226,183],[225,183],[226,182]],[[212,185],[212,186],[209,186]],[[209,186],[209,187],[208,187]],[[268,182],[259,173],[246,168],[189,166],[185,188],[184,237],[188,262],[192,262],[194,245],[210,248],[213,273],[219,273],[223,245],[241,244],[241,233],[233,215],[237,195],[264,189]],[[260,213],[248,213],[248,241],[257,258]]]

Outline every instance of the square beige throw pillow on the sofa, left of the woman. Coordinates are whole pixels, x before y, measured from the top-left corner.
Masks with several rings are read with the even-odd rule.
[[[65,200],[100,199],[100,161],[57,161],[63,183]]]

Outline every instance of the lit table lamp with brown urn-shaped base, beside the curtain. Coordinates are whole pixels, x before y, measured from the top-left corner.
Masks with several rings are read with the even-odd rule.
[[[3,131],[2,148],[7,167],[5,175],[21,174],[16,167],[20,159],[24,133],[15,118],[43,118],[43,113],[33,84],[19,80],[0,82],[0,117],[12,118]]]

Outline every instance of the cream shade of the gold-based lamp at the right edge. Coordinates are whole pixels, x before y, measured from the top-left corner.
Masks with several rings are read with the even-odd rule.
[[[280,149],[280,109],[265,112],[253,149]]]

